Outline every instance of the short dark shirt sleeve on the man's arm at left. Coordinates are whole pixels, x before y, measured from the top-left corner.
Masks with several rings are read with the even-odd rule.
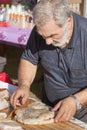
[[[36,27],[33,28],[29,40],[27,42],[26,49],[22,54],[22,59],[28,60],[34,65],[37,65],[39,62],[39,40],[40,35],[36,31]]]

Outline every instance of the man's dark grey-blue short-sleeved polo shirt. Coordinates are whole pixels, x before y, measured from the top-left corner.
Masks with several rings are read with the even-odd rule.
[[[70,44],[60,49],[46,45],[32,30],[22,58],[44,68],[44,85],[51,103],[81,91],[87,86],[87,19],[73,13],[74,31]]]

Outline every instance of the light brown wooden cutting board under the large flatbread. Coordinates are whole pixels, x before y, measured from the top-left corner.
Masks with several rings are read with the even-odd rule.
[[[47,125],[26,125],[23,126],[24,130],[85,130],[85,128],[80,127],[71,122],[53,123]]]

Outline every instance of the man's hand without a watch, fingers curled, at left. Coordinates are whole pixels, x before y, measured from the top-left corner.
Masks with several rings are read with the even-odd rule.
[[[29,97],[29,88],[28,87],[21,87],[18,88],[11,96],[11,105],[14,109],[17,106],[23,105]]]

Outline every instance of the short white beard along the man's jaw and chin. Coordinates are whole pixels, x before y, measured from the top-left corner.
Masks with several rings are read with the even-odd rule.
[[[69,35],[70,35],[70,33],[71,33],[71,30],[70,29],[68,29],[68,28],[64,28],[64,32],[65,32],[65,34],[64,34],[64,36],[59,40],[59,42],[52,42],[52,45],[53,46],[55,46],[55,47],[62,47],[62,46],[64,46],[65,44],[66,44],[66,41],[67,41],[67,39],[69,38]]]

